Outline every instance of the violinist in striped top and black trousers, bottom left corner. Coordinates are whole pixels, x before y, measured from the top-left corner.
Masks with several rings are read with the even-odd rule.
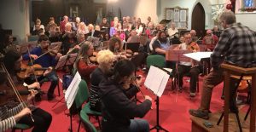
[[[18,65],[19,62],[16,63]],[[0,72],[0,88],[8,89],[6,83],[7,74]],[[8,109],[8,106],[14,106],[14,103],[10,104],[11,101],[9,101],[9,103],[5,102],[4,106],[0,107],[0,131],[11,129],[16,123],[25,123],[29,126],[33,126],[32,132],[46,132],[49,129],[52,120],[49,112],[45,112],[37,106],[28,104],[35,94],[36,93],[32,91],[31,95],[28,95],[26,102],[21,102],[19,106],[12,107],[11,109]],[[32,118],[30,116],[32,116]]]

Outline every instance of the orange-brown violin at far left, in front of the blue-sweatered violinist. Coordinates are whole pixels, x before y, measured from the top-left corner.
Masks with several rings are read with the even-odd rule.
[[[49,68],[48,67],[44,68],[38,64],[35,64],[33,66],[26,66],[25,64],[22,63],[20,72],[17,73],[17,76],[23,79],[26,77],[29,77],[31,74],[34,74],[35,76],[41,76],[44,74],[44,71],[47,69]]]

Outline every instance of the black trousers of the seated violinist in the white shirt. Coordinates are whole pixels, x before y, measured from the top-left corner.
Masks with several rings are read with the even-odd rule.
[[[177,84],[179,87],[183,86],[183,77],[189,76],[190,82],[190,92],[195,93],[196,91],[196,82],[198,82],[198,76],[202,72],[202,66],[184,66],[184,65],[178,65],[177,71],[176,71],[176,78],[177,78]]]

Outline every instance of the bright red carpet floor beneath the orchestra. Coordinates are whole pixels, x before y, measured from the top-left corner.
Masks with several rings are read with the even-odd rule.
[[[145,75],[143,72],[139,72],[138,74],[143,75],[143,79],[145,79]],[[61,75],[61,73],[60,73]],[[61,76],[60,76],[61,77]],[[191,131],[191,121],[189,116],[189,109],[196,109],[200,105],[201,101],[201,86],[203,77],[200,77],[200,93],[196,95],[195,98],[189,98],[189,82],[188,78],[183,78],[183,93],[177,93],[177,91],[171,91],[172,81],[169,79],[167,83],[166,90],[164,94],[160,97],[160,125],[172,132],[189,132]],[[60,83],[61,86],[61,83]],[[49,83],[44,83],[43,88],[46,90],[49,88]],[[224,101],[220,99],[222,93],[223,83],[219,84],[215,89],[213,89],[212,93],[212,103],[211,103],[211,111],[218,112],[222,110],[222,106]],[[153,99],[155,96],[151,93],[150,90],[141,88],[144,95],[150,95]],[[62,91],[62,90],[61,90]],[[55,89],[55,95],[57,95],[57,89]],[[139,100],[143,100],[143,95],[138,93],[137,97]],[[61,100],[54,108],[52,106],[55,103]],[[67,132],[70,127],[70,120],[65,112],[67,111],[67,106],[63,100],[63,94],[61,92],[61,96],[56,96],[55,100],[48,101],[46,95],[43,95],[42,101],[36,103],[37,106],[40,106],[47,112],[50,112],[53,116],[53,121],[50,125],[49,132]],[[144,117],[150,123],[150,128],[156,124],[156,107],[153,102],[153,109],[148,112],[148,114]],[[94,118],[91,118],[90,121],[96,125],[98,128],[98,124]],[[79,126],[79,116],[76,115],[73,118],[73,131],[77,131]],[[31,131],[31,130],[27,130]],[[85,131],[83,126],[80,129],[81,132]],[[152,130],[156,131],[156,130]]]

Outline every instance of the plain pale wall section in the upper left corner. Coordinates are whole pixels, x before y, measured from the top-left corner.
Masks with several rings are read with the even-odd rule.
[[[3,29],[11,29],[18,42],[26,41],[29,33],[29,0],[1,0],[0,23]]]

